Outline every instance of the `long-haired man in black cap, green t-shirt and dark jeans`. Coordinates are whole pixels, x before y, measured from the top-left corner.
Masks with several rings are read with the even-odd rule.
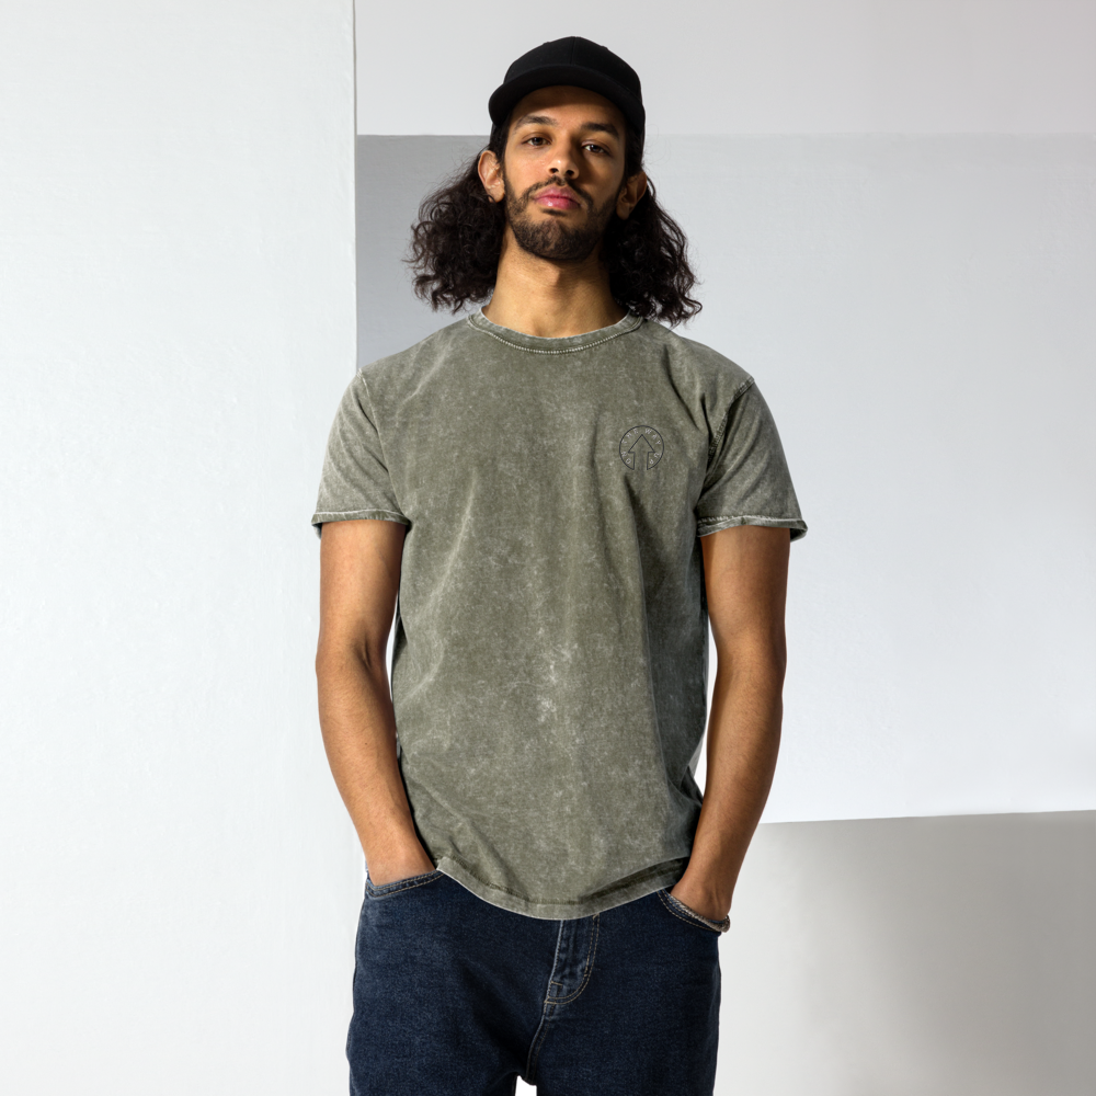
[[[699,305],[632,69],[546,43],[489,110],[412,244],[435,308],[488,304],[358,372],[312,516],[351,1091],[710,1094],[807,526],[752,377],[657,322]]]

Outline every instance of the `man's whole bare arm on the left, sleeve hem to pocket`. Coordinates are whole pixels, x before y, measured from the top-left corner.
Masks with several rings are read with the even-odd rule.
[[[434,868],[415,833],[396,758],[385,660],[404,530],[399,522],[327,522],[320,536],[320,727],[376,883]]]

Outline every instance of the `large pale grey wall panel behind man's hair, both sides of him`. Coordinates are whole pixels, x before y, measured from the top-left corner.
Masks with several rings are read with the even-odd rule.
[[[363,358],[449,321],[399,259],[477,147],[359,138]],[[810,525],[766,819],[1096,806],[1096,145],[674,137],[648,169],[704,277],[678,330],[757,377]]]

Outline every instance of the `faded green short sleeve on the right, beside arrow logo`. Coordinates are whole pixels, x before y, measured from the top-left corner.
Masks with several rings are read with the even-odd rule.
[[[773,414],[747,381],[728,408],[712,441],[696,504],[697,536],[732,525],[766,525],[807,534]]]

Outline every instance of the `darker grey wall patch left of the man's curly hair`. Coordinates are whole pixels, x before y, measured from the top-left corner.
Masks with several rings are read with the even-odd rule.
[[[419,203],[484,145],[486,136],[357,138],[358,365],[407,350],[464,315],[419,300],[401,260]]]

